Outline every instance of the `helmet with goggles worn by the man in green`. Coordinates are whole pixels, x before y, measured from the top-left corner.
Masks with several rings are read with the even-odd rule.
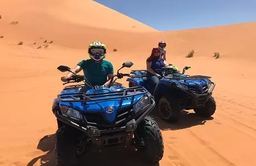
[[[91,43],[88,47],[88,53],[90,58],[92,58],[95,61],[101,61],[106,56],[106,46],[105,44],[95,41]]]

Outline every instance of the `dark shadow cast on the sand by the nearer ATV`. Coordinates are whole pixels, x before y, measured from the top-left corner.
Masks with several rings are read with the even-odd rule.
[[[43,166],[55,166],[55,134],[46,135],[41,138],[37,149],[47,152],[44,155],[33,158],[27,166],[33,166],[40,161]],[[88,166],[111,165],[111,166],[159,166],[159,164],[149,165],[145,163],[135,150],[114,150],[109,149],[97,154],[90,154],[85,158],[85,164]]]

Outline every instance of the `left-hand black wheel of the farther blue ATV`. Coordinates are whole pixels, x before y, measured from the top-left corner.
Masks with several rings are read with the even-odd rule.
[[[172,97],[161,97],[158,103],[161,119],[166,122],[177,122],[180,118],[181,108],[179,102]]]

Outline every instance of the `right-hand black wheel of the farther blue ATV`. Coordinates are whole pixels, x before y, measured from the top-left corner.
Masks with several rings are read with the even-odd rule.
[[[209,118],[211,115],[215,113],[216,103],[213,97],[210,97],[208,101],[205,103],[204,107],[195,108],[194,112],[201,117]]]

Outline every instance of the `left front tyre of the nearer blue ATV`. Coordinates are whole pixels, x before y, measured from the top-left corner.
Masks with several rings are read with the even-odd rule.
[[[55,138],[55,158],[57,166],[75,166],[78,164],[77,157],[77,134],[72,128],[60,127]]]

